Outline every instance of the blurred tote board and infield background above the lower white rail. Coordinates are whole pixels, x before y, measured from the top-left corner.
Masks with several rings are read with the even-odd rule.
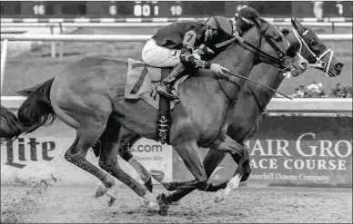
[[[204,20],[212,15],[233,18],[237,10],[245,6],[255,8],[278,29],[290,27],[288,19],[294,17],[307,22],[306,26],[316,34],[352,34],[350,1],[2,1],[1,33],[153,34],[158,24],[184,18]],[[351,40],[324,43],[345,63],[343,72],[338,77],[329,78],[318,70],[308,69],[297,78],[286,79],[279,91],[294,97],[351,97]],[[87,55],[140,59],[144,44],[128,41],[10,41],[5,55],[2,95],[17,95],[16,90],[44,82],[68,63]],[[3,48],[2,45],[2,53]]]

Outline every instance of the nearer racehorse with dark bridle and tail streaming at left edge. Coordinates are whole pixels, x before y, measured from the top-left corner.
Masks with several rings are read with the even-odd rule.
[[[227,44],[212,62],[226,66],[233,73],[247,77],[257,63],[270,63],[284,67],[286,52],[294,57],[287,39],[272,24],[254,19],[254,26],[242,37]],[[245,41],[246,40],[246,41]],[[245,44],[246,43],[246,44]],[[303,70],[306,62],[296,56],[293,64]],[[126,74],[116,73],[126,63],[101,57],[86,57],[69,64],[58,76],[33,88],[19,92],[28,96],[18,110],[18,119],[2,107],[1,140],[18,137],[21,133],[35,131],[57,117],[76,129],[76,139],[66,151],[65,158],[77,167],[95,175],[107,188],[114,179],[103,170],[121,180],[152,207],[156,198],[131,178],[117,164],[116,147],[119,139],[127,137],[121,127],[140,136],[154,139],[157,110],[144,101],[126,100],[124,97]],[[170,182],[168,190],[207,189],[207,173],[198,156],[198,146],[218,151],[239,153],[237,142],[226,137],[227,112],[237,102],[245,81],[229,74],[216,74],[198,70],[179,87],[181,102],[171,112],[169,142],[178,152],[196,180]],[[86,153],[96,141],[100,141],[99,166],[86,161]],[[240,167],[240,166],[239,166]],[[243,167],[240,176],[248,175]]]

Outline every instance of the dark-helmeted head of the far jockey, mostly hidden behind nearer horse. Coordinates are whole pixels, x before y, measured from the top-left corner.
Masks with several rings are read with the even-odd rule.
[[[237,11],[235,15],[236,28],[238,32],[243,32],[254,25],[251,19],[259,19],[260,15],[258,15],[257,11],[252,7],[245,7]]]

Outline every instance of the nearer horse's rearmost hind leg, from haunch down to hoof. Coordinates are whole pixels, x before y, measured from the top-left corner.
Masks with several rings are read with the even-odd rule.
[[[96,176],[107,187],[112,187],[114,179],[86,160],[87,151],[106,129],[112,112],[109,99],[98,93],[82,96],[67,91],[60,97],[53,96],[51,102],[57,117],[76,129],[76,139],[65,154],[66,161]]]

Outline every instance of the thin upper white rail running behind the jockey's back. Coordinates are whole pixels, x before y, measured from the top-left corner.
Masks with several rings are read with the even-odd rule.
[[[1,40],[9,41],[82,41],[82,42],[144,42],[151,35],[139,34],[2,34]],[[352,34],[318,34],[322,41],[351,41]]]

